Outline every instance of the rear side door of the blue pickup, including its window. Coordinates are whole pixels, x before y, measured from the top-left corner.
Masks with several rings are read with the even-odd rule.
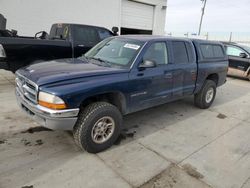
[[[173,75],[173,99],[190,95],[195,89],[197,64],[191,42],[172,41],[172,64],[168,71]]]

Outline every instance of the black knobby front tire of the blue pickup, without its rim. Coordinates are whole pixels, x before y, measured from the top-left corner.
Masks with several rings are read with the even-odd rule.
[[[97,144],[93,141],[91,132],[98,119],[109,116],[115,122],[113,135],[104,143]],[[73,129],[76,144],[90,153],[98,153],[111,147],[117,140],[122,126],[122,115],[117,107],[107,102],[95,102],[83,108]]]

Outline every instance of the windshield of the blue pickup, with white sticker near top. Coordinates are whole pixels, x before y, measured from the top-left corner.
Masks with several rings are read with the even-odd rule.
[[[108,38],[85,54],[88,59],[108,63],[110,66],[128,67],[143,46],[143,42],[132,39]]]

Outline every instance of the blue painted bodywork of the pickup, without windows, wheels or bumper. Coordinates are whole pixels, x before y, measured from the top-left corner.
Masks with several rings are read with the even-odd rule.
[[[18,70],[39,86],[40,91],[53,93],[62,98],[68,108],[79,108],[92,96],[117,93],[124,100],[123,114],[178,100],[200,91],[211,74],[218,76],[217,86],[226,81],[228,59],[204,59],[200,44],[203,40],[178,39],[157,36],[119,36],[141,40],[144,46],[130,67],[99,66],[83,59],[61,59],[37,63]],[[138,69],[148,47],[157,41],[165,42],[168,64]],[[176,63],[172,42],[184,41],[189,52],[189,62]],[[223,46],[217,42],[211,42]]]

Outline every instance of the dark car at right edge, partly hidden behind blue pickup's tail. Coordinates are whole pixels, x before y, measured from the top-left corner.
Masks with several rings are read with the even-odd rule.
[[[250,47],[224,42],[229,60],[228,75],[250,80]]]

